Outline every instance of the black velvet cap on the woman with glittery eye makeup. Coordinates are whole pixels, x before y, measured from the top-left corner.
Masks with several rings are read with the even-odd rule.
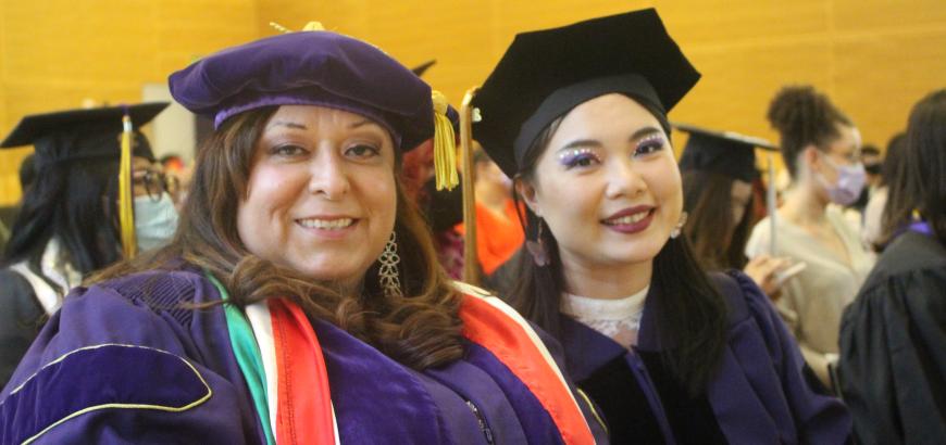
[[[699,77],[654,9],[519,34],[473,99],[473,137],[513,177],[538,134],[576,105],[620,92],[667,113]]]

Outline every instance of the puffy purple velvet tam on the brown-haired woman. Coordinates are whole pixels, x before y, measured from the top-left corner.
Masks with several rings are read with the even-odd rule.
[[[434,135],[431,87],[378,48],[329,31],[256,40],[169,78],[171,94],[215,128],[269,105],[319,105],[369,117],[409,151]]]

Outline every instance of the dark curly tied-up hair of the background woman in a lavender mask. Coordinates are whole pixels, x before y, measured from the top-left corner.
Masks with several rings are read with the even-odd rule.
[[[769,104],[769,123],[779,131],[782,160],[793,178],[798,174],[798,155],[813,145],[820,151],[839,137],[838,125],[851,120],[811,86],[782,88]]]

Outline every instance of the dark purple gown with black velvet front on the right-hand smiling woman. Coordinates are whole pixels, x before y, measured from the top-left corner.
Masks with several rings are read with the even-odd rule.
[[[562,346],[578,387],[600,407],[615,444],[839,444],[850,418],[816,394],[798,346],[762,292],[740,272],[714,279],[729,306],[727,342],[717,377],[689,397],[660,359],[650,288],[632,351],[563,317]]]

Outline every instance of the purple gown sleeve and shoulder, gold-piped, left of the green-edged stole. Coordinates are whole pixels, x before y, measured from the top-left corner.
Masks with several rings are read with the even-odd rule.
[[[222,310],[182,307],[216,298],[187,271],[73,290],[0,393],[0,443],[246,443],[256,425],[241,415],[245,384],[217,366],[226,358],[207,356],[232,354],[220,347],[227,338],[199,334]],[[225,325],[207,331],[220,330]]]

